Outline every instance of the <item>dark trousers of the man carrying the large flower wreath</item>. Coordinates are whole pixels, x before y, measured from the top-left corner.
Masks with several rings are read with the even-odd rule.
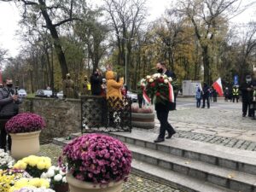
[[[157,119],[160,120],[160,134],[158,136],[159,138],[165,138],[166,131],[170,135],[175,133],[172,125],[170,125],[169,122],[168,122],[168,113],[169,113],[169,111],[164,111],[164,110],[163,111],[162,110],[157,110],[156,111]]]

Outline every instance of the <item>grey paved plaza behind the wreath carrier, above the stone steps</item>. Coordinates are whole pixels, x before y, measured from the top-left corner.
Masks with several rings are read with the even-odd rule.
[[[174,137],[256,151],[256,120],[241,117],[241,102],[211,102],[211,108],[195,108],[193,98],[177,98],[177,110],[169,113],[177,131]],[[156,119],[153,130],[158,132]]]

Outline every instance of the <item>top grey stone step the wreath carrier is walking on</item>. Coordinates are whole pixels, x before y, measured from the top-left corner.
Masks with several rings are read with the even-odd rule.
[[[238,172],[256,175],[256,153],[253,151],[228,148],[211,143],[201,143],[185,138],[172,137],[164,143],[154,143],[157,134],[133,129],[130,132],[109,133],[124,143],[173,154],[189,160],[200,160],[214,166],[229,168]]]

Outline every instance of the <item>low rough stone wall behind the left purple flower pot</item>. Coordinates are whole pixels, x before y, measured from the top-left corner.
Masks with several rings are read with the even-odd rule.
[[[41,115],[46,128],[40,134],[40,142],[51,142],[54,137],[67,137],[81,131],[81,101],[79,99],[26,98],[20,104],[21,112]]]

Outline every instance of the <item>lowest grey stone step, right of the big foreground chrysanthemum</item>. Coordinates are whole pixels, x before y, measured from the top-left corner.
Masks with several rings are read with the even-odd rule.
[[[202,181],[195,177],[189,177],[178,172],[172,172],[160,166],[154,166],[141,160],[132,160],[132,172],[145,175],[186,192],[235,192],[237,190],[225,189],[216,184]]]

